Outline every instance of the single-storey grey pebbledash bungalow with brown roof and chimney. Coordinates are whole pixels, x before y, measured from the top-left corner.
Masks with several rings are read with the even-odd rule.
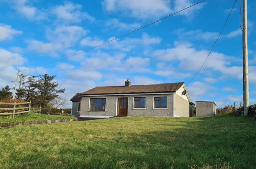
[[[184,82],[154,85],[95,87],[77,93],[72,115],[87,118],[113,116],[191,117],[191,102]]]

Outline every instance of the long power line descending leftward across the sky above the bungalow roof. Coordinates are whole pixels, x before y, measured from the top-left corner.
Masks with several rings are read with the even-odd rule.
[[[135,30],[133,30],[133,31],[131,31],[131,32],[128,32],[128,33],[126,33],[126,34],[123,34],[123,35],[121,35],[121,36],[119,36],[119,37],[116,37],[116,38],[113,38],[113,39],[111,39],[111,40],[108,40],[108,41],[106,41],[105,43],[102,43],[102,44],[100,44],[100,45],[94,46],[94,47],[89,48],[89,49],[87,49],[87,50],[85,50],[85,51],[82,51],[82,52],[79,52],[79,53],[76,53],[76,54],[73,54],[73,55],[70,55],[70,56],[67,56],[67,57],[64,57],[64,58],[61,58],[61,59],[52,61],[52,62],[49,62],[49,63],[44,64],[44,65],[41,65],[41,66],[37,66],[37,67],[34,67],[34,68],[30,68],[30,69],[26,69],[26,70],[21,70],[21,71],[24,72],[24,71],[28,71],[28,70],[32,70],[32,69],[44,67],[44,66],[47,66],[47,65],[51,65],[51,64],[54,64],[54,63],[56,63],[56,62],[58,62],[58,61],[62,61],[62,60],[65,60],[65,59],[67,59],[67,58],[70,58],[70,57],[79,55],[79,54],[84,53],[84,52],[87,52],[87,51],[90,51],[90,50],[92,50],[92,49],[99,48],[99,47],[101,47],[101,46],[103,46],[103,45],[106,45],[106,44],[108,44],[108,43],[111,43],[111,41],[120,39],[120,38],[122,38],[122,37],[124,37],[124,36],[127,36],[127,35],[131,34],[131,33],[134,33],[134,32],[137,32],[137,31],[139,31],[139,30],[141,30],[141,29],[144,29],[144,28],[146,28],[146,27],[149,27],[149,26],[151,26],[151,25],[153,25],[153,24],[155,24],[155,23],[160,22],[161,20],[164,20],[164,19],[166,19],[166,18],[168,18],[168,17],[170,17],[170,16],[173,16],[173,15],[175,15],[175,14],[177,14],[177,13],[180,13],[180,12],[182,12],[182,11],[188,9],[188,8],[191,8],[191,7],[195,6],[195,5],[198,5],[198,4],[200,4],[200,3],[204,2],[204,1],[206,1],[206,0],[203,0],[203,1],[200,1],[200,2],[195,3],[195,4],[193,4],[193,5],[190,5],[190,6],[184,8],[184,9],[182,9],[182,10],[180,10],[180,11],[177,11],[177,12],[174,12],[174,13],[172,13],[172,14],[170,14],[170,15],[167,15],[167,16],[165,16],[165,17],[162,17],[162,18],[160,18],[159,20],[156,20],[156,21],[154,21],[154,22],[152,22],[152,23],[150,23],[150,24],[148,24],[148,25],[145,25],[145,26],[143,26],[143,27],[140,27],[140,28],[138,28],[138,29],[135,29]]]

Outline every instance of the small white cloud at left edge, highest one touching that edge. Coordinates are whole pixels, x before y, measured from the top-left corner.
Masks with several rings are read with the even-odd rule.
[[[21,31],[12,29],[10,25],[0,24],[0,41],[12,39],[13,36],[21,33]]]

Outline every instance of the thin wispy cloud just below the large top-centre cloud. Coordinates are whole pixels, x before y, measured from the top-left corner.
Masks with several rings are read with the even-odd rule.
[[[110,19],[107,20],[106,22],[106,26],[109,29],[119,29],[119,30],[130,30],[130,29],[135,29],[135,28],[139,28],[141,26],[141,24],[139,23],[132,23],[132,24],[128,24],[128,23],[124,23],[121,22],[119,19]]]

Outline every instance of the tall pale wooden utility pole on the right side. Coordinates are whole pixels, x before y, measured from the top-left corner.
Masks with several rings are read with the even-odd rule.
[[[248,45],[247,45],[247,0],[243,0],[243,88],[244,116],[249,109],[249,77],[248,77]]]

